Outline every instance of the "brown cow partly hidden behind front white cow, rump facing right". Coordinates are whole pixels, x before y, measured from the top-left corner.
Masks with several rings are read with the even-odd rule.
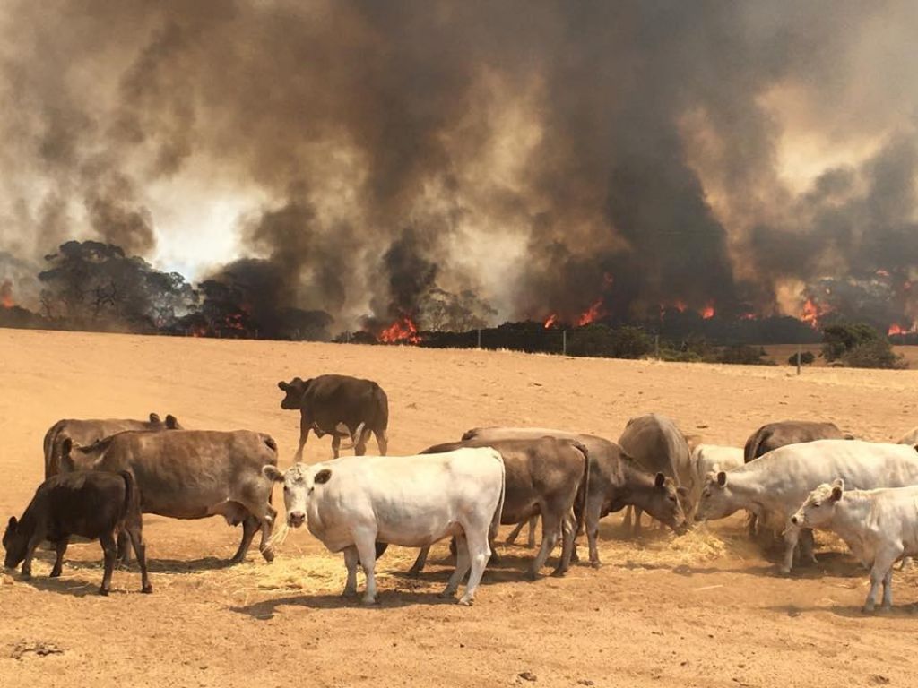
[[[507,473],[507,494],[500,522],[504,525],[542,516],[542,546],[528,577],[535,580],[545,560],[562,538],[561,559],[553,575],[561,576],[570,568],[574,535],[579,531],[589,489],[588,449],[576,440],[543,437],[537,439],[468,440],[438,444],[422,454],[453,451],[463,447],[491,447],[503,457]],[[571,517],[577,505],[577,524]],[[420,550],[410,572],[420,573],[427,561],[429,547]]]

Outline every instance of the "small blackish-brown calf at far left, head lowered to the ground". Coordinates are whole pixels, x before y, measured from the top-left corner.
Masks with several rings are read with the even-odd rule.
[[[152,593],[141,530],[140,494],[129,472],[81,471],[55,475],[39,485],[22,518],[17,521],[15,516],[10,517],[3,536],[4,563],[7,568],[15,569],[22,561],[22,576],[30,577],[35,549],[47,539],[57,550],[51,569],[51,578],[57,578],[71,536],[98,538],[106,560],[99,593],[108,594],[115,568],[115,534],[126,531],[140,563],[142,590]]]

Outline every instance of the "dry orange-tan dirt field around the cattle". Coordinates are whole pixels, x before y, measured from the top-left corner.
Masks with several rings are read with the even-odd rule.
[[[62,417],[174,413],[186,427],[268,432],[286,466],[297,415],[275,383],[343,372],[390,399],[390,449],[409,453],[468,427],[579,429],[617,438],[658,411],[689,433],[741,444],[760,424],[833,420],[872,439],[918,424],[918,372],[730,367],[507,352],[0,330],[0,515],[20,514],[42,477],[41,439]],[[371,449],[373,445],[371,445]],[[310,438],[308,461],[330,454]],[[279,494],[275,494],[279,499]],[[420,580],[414,552],[380,560],[381,604],[339,597],[344,565],[304,529],[273,564],[224,561],[240,530],[222,519],[148,517],[155,593],[135,568],[100,597],[97,544],[73,545],[49,580],[0,574],[0,685],[150,686],[861,686],[918,684],[913,573],[896,573],[887,615],[864,617],[867,578],[823,538],[821,563],[775,573],[738,517],[684,538],[601,530],[606,566],[521,580],[531,552],[501,548],[476,605],[441,602],[445,547]],[[548,569],[545,570],[549,571]],[[521,676],[524,674],[524,676]]]

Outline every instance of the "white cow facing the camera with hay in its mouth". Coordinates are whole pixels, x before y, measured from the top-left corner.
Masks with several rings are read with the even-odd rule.
[[[456,538],[456,569],[443,597],[453,597],[471,568],[461,605],[471,605],[491,549],[504,501],[504,462],[485,447],[421,456],[363,456],[296,463],[264,474],[284,483],[287,523],[309,532],[330,551],[344,552],[347,584],[357,592],[357,564],[366,573],[364,605],[376,599],[375,542],[426,547]]]

